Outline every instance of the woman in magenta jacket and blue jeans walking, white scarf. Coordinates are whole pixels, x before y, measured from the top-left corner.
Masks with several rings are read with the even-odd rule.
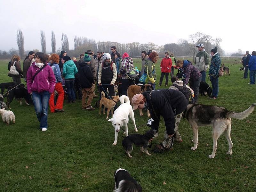
[[[44,53],[37,52],[35,61],[27,72],[27,88],[28,93],[32,95],[40,128],[47,131],[49,98],[54,91],[56,79],[52,68],[47,65]]]

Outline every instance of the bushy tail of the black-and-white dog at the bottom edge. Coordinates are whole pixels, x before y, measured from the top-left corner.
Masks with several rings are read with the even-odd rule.
[[[142,188],[139,183],[134,183],[129,180],[121,180],[118,188],[113,192],[141,192]]]

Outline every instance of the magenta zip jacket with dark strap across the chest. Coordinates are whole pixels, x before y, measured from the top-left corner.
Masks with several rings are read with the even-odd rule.
[[[27,72],[27,88],[28,93],[33,91],[35,92],[44,92],[48,91],[50,94],[54,91],[56,79],[52,68],[47,65],[43,68],[33,80],[33,76],[40,68],[35,65],[35,62],[32,66],[28,69]]]

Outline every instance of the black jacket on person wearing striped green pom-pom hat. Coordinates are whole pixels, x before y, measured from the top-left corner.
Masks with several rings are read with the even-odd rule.
[[[90,88],[94,83],[92,70],[89,65],[86,63],[79,63],[79,76],[80,76],[80,83],[81,87],[83,88]]]

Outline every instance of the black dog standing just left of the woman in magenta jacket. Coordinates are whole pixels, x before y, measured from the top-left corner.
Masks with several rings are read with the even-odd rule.
[[[10,104],[15,97],[16,99],[20,99],[20,105],[22,105],[21,99],[24,98],[26,101],[26,104],[29,102],[29,94],[27,89],[25,88],[24,84],[20,84],[17,88],[12,89],[13,87],[8,87],[8,93],[7,93],[7,102],[6,105],[8,108],[10,108]],[[11,90],[12,89],[12,90]],[[6,97],[6,95],[4,96]]]

